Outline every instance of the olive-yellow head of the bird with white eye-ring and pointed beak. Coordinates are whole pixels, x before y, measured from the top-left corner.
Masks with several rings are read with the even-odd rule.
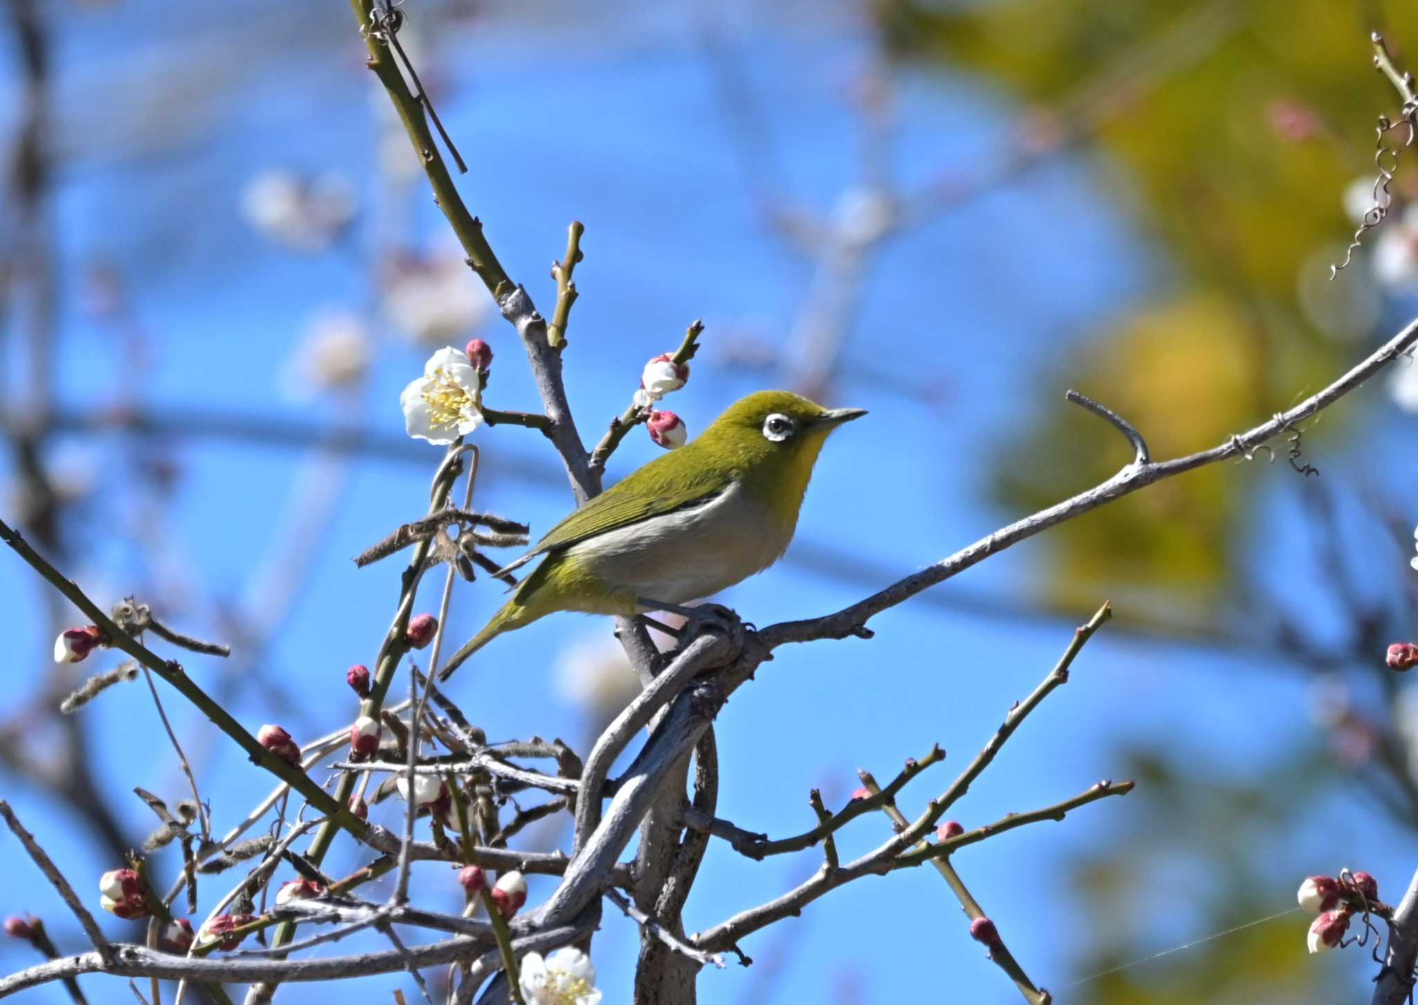
[[[825,409],[790,390],[760,390],[715,419],[696,441],[698,451],[771,478],[801,501],[827,434],[864,414],[865,409]]]

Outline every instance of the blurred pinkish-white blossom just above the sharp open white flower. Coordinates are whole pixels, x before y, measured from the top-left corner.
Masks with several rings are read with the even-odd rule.
[[[488,317],[481,285],[461,256],[406,258],[384,287],[384,314],[414,345],[462,342]]]

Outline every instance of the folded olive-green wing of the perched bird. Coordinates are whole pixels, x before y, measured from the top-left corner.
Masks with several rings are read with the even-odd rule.
[[[681,447],[679,453],[683,450],[688,447]],[[594,538],[597,534],[698,505],[718,495],[730,484],[725,481],[722,474],[715,477],[696,467],[691,467],[686,473],[682,463],[671,467],[669,471],[674,471],[675,477],[666,478],[666,466],[661,464],[665,460],[669,460],[669,454],[652,460],[571,512],[547,531],[532,551],[499,569],[498,575],[520,568],[537,555],[570,548],[587,538]]]

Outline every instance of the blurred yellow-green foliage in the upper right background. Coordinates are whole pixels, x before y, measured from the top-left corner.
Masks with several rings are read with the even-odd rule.
[[[1418,7],[886,0],[878,10],[902,58],[986,74],[1015,94],[1021,145],[1092,145],[1124,169],[1120,209],[1154,240],[1167,290],[1103,319],[1062,379],[1127,416],[1154,456],[1268,419],[1337,375],[1351,339],[1374,335],[1377,309],[1344,309],[1354,292],[1302,297],[1302,284],[1327,284],[1316,261],[1343,257],[1353,231],[1343,193],[1373,175],[1375,119],[1400,104],[1373,68],[1368,34],[1381,28],[1418,53]],[[1411,185],[1418,165],[1407,169],[1400,180]],[[1370,292],[1364,264],[1337,282]],[[1346,414],[1306,437],[1312,454]],[[1122,460],[1116,436],[1085,416],[1059,419],[1048,399],[1022,441],[1000,451],[995,481],[1011,508],[1045,505]],[[1297,477],[1283,464],[1266,474]],[[1225,599],[1228,544],[1254,484],[1234,467],[1207,468],[1065,524],[1051,535],[1061,561],[1042,591],[1082,602],[1126,589],[1205,615]]]

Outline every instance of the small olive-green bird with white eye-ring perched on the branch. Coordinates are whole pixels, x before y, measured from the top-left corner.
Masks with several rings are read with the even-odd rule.
[[[681,605],[769,568],[793,541],[827,434],[864,414],[787,390],[729,406],[698,439],[601,493],[502,569],[545,556],[442,676],[556,610],[637,615],[649,609],[644,599]]]

